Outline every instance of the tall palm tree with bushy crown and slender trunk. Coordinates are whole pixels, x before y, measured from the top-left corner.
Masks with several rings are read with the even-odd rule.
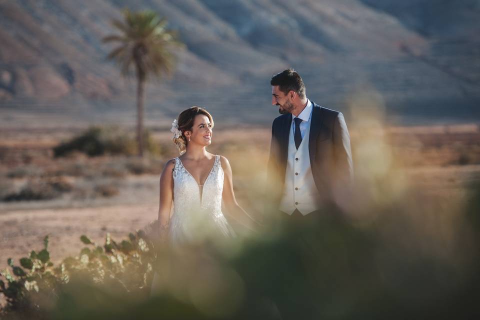
[[[123,10],[123,21],[114,19],[112,25],[121,34],[108,35],[103,42],[116,42],[119,45],[108,54],[121,67],[123,76],[131,75],[134,68],[137,79],[136,138],[138,155],[143,155],[143,100],[144,86],[150,74],[159,77],[161,73],[170,74],[174,65],[171,49],[181,46],[176,33],[166,28],[165,18],[159,18],[151,10],[131,12]]]

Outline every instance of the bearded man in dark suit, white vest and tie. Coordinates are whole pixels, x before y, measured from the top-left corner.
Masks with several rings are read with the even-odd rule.
[[[305,220],[324,207],[342,208],[353,180],[350,136],[343,114],[305,94],[298,72],[286,69],[270,80],[273,120],[267,180],[271,209]]]

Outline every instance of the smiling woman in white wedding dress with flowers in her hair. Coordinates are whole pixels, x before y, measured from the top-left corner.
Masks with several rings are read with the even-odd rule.
[[[206,150],[212,129],[210,113],[198,106],[182,111],[172,123],[180,156],[169,160],[160,176],[158,225],[160,237],[173,246],[235,236],[221,211],[222,200],[240,224],[252,229],[255,223],[236,202],[228,160]]]

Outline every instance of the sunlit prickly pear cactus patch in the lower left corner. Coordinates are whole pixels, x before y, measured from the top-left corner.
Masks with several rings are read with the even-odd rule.
[[[102,298],[98,295],[102,288],[136,298],[148,296],[155,253],[142,231],[130,233],[121,242],[107,233],[101,246],[85,235],[80,240],[86,246],[79,255],[66,257],[56,265],[50,260],[48,236],[40,251],[32,250],[27,257],[20,258],[20,265],[9,258],[11,271],[1,270],[6,281],[0,279],[0,292],[6,303],[0,315],[13,319],[51,318],[61,307],[58,302],[68,300],[80,287],[91,287],[88,293],[82,292],[92,294],[94,300]]]

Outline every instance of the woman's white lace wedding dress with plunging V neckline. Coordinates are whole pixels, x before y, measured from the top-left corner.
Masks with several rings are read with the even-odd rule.
[[[234,232],[221,212],[223,169],[220,156],[215,155],[202,190],[178,157],[175,158],[172,174],[173,214],[169,226],[171,242],[178,244],[201,241],[211,236],[233,236]]]

